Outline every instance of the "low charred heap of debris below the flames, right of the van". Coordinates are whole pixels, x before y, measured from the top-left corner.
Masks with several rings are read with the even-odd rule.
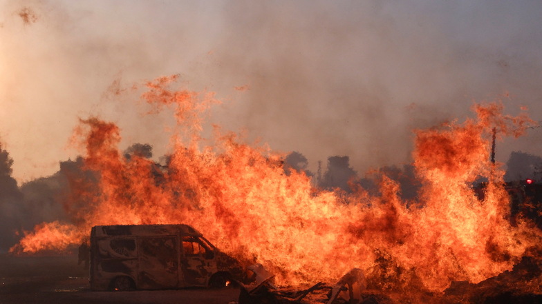
[[[542,259],[523,257],[512,270],[487,278],[480,283],[453,281],[443,292],[419,290],[379,290],[371,285],[359,268],[353,268],[334,285],[317,283],[304,290],[277,287],[274,275],[262,265],[249,267],[254,272],[250,285],[239,283],[239,303],[230,304],[489,304],[489,303],[542,303],[542,294],[536,287],[542,282]]]

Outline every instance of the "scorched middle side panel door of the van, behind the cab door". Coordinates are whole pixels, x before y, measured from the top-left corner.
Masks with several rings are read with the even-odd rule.
[[[178,251],[176,236],[138,238],[140,289],[178,287]]]

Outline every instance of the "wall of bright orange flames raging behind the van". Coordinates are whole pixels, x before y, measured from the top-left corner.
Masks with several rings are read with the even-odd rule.
[[[81,121],[84,174],[65,172],[65,206],[72,224],[44,223],[13,251],[63,250],[93,225],[186,223],[247,263],[261,263],[278,283],[335,281],[353,267],[382,287],[418,285],[444,290],[451,281],[495,276],[541,241],[526,221],[508,221],[503,171],[489,162],[493,128],[519,136],[532,121],[503,115],[498,103],[476,105],[477,119],[415,132],[413,158],[422,190],[400,199],[386,176],[380,194],[325,191],[303,173],[283,171],[283,155],[248,145],[216,128],[200,140],[201,117],[218,103],[211,93],[169,90],[176,77],[147,83],[153,112],[174,108],[178,132],[167,165],[118,150],[120,130],[97,118]],[[487,178],[480,201],[471,184]]]

